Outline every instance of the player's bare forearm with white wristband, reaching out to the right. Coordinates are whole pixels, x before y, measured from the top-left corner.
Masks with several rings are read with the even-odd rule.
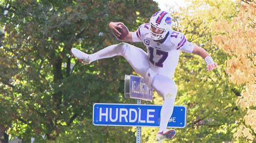
[[[207,71],[217,68],[217,63],[213,61],[212,57],[205,51],[205,49],[195,46],[192,53],[201,56],[201,58],[205,60],[207,64]]]

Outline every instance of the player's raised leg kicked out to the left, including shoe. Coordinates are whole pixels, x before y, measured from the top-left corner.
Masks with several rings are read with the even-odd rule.
[[[93,54],[86,54],[75,48],[72,48],[71,52],[79,60],[83,60],[83,62],[87,64],[96,60],[111,58],[117,55],[123,56],[130,63],[132,68],[143,77],[145,76],[147,69],[150,68],[146,52],[125,42],[108,46]]]

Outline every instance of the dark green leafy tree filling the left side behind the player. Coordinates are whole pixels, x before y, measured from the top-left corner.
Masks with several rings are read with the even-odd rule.
[[[56,140],[70,133],[80,137],[81,132],[99,142],[134,140],[127,127],[86,124],[92,122],[93,103],[127,102],[123,78],[132,71],[129,63],[116,57],[82,66],[69,51],[76,47],[92,53],[117,43],[107,24],[123,21],[135,30],[157,11],[156,2],[6,0],[0,2],[0,10],[5,31],[0,49],[0,127],[5,132],[25,141],[43,141],[43,136]]]

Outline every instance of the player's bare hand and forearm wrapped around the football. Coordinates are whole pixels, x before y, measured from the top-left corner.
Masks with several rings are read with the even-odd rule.
[[[121,22],[110,22],[109,28],[111,31],[113,31],[114,36],[117,38],[117,40],[120,40],[118,37],[120,37],[121,33],[117,30],[117,28],[122,28],[121,25],[124,25]],[[124,40],[120,40],[124,42],[132,42],[132,32],[129,32],[127,37]]]

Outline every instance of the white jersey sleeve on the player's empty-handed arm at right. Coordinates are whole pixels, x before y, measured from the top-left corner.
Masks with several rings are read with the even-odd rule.
[[[187,53],[192,53],[194,46],[196,45],[192,44],[192,42],[187,41],[184,34],[180,33],[180,36],[181,36],[180,37],[181,40],[178,42],[177,49]]]

